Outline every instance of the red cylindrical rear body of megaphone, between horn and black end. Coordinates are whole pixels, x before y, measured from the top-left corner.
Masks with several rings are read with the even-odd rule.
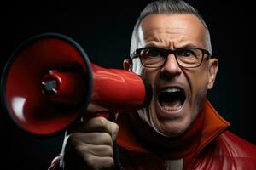
[[[92,101],[111,111],[134,111],[145,100],[145,86],[141,77],[130,71],[104,69],[91,65],[93,70]]]

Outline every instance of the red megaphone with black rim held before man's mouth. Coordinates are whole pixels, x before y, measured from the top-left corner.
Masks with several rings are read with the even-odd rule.
[[[46,33],[30,38],[10,57],[1,81],[2,104],[22,130],[59,133],[94,102],[109,111],[148,105],[152,88],[130,71],[90,63],[70,37]]]

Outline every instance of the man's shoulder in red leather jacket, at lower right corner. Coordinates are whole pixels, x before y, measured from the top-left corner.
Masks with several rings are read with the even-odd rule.
[[[256,169],[256,146],[225,131],[197,157],[196,169]]]

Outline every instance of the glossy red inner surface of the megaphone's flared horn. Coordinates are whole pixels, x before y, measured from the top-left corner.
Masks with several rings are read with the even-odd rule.
[[[51,134],[73,122],[79,107],[56,105],[42,93],[41,82],[50,70],[73,70],[78,64],[85,72],[79,51],[59,38],[44,38],[22,49],[10,65],[5,82],[6,107],[16,124],[30,133]],[[77,93],[81,94],[80,90]]]

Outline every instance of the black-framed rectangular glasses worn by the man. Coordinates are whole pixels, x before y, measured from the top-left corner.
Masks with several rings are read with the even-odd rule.
[[[145,67],[157,68],[165,65],[169,54],[174,54],[177,64],[183,68],[195,68],[201,65],[205,54],[210,58],[211,54],[202,48],[177,48],[175,50],[166,48],[138,48],[131,59],[139,58]]]

